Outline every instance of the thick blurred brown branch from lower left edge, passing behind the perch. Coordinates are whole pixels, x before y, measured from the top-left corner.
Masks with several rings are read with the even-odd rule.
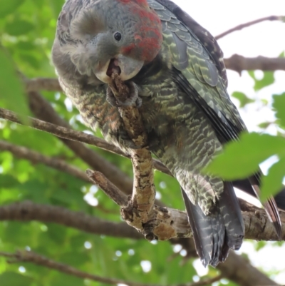
[[[247,207],[245,206],[245,208]],[[250,208],[253,211],[253,213],[250,213],[250,216],[254,216],[254,210],[257,208]],[[263,210],[262,215],[265,216]],[[284,213],[281,213],[281,219],[283,222],[285,221]],[[0,207],[0,220],[38,220],[43,223],[58,223],[60,225],[66,225],[71,228],[98,235],[110,235],[117,238],[143,238],[140,233],[138,233],[134,228],[128,226],[126,223],[113,223],[107,220],[100,220],[83,213],[73,212],[66,208],[56,207],[53,205],[41,205],[30,201],[13,203],[11,205]],[[248,229],[249,223],[246,223],[246,225]],[[256,224],[253,221],[249,230],[253,230],[255,225]],[[259,227],[257,230],[259,231]],[[196,256],[195,245],[192,240],[176,238],[172,240],[172,243],[183,245],[187,252]],[[241,271],[239,271],[240,267],[242,269]],[[266,275],[250,265],[244,257],[237,255],[234,252],[230,252],[226,262],[219,264],[217,269],[222,272],[223,277],[227,277],[229,280],[233,280],[242,286],[276,285],[276,283],[269,280]]]

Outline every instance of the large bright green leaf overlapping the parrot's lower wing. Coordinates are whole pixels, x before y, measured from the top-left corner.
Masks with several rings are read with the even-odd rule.
[[[244,133],[240,141],[228,143],[224,152],[204,170],[225,180],[247,178],[271,155],[285,155],[285,138],[259,133]]]

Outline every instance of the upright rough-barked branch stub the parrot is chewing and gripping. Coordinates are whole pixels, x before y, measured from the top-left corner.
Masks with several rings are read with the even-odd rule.
[[[113,73],[110,88],[117,101],[121,103],[128,102],[131,94],[130,88],[121,81],[118,73]],[[133,91],[136,93],[138,91]],[[119,107],[120,117],[123,119],[125,130],[130,140],[135,143],[138,149],[131,149],[130,156],[133,163],[133,195],[129,202],[128,208],[134,209],[140,218],[142,227],[143,223],[149,220],[149,214],[155,202],[155,185],[153,182],[152,156],[150,150],[142,148],[147,145],[147,133],[142,123],[142,118],[135,106]],[[138,227],[138,225],[136,225]]]

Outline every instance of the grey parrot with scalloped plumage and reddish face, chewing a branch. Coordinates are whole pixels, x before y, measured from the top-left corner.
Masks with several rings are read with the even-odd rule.
[[[118,106],[138,106],[147,148],[180,183],[197,253],[212,266],[244,238],[234,186],[258,195],[261,176],[227,182],[202,172],[224,143],[247,131],[227,93],[222,56],[214,37],[170,0],[68,0],[52,50],[83,120],[125,152],[136,147]],[[130,87],[128,103],[110,91],[114,72]],[[277,204],[285,209],[284,193]],[[280,235],[274,199],[264,207]]]

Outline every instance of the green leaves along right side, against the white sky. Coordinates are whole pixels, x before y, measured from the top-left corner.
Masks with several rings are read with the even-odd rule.
[[[249,75],[254,78],[254,89],[269,86],[274,80],[273,72],[264,72],[264,78],[257,80],[254,72],[250,71]],[[244,93],[234,92],[233,96],[244,107],[252,103]],[[261,178],[261,200],[264,201],[271,195],[275,195],[282,188],[282,182],[285,177],[285,93],[272,96],[272,108],[275,111],[276,135],[264,133],[244,133],[239,141],[228,143],[222,154],[218,155],[211,164],[205,168],[214,175],[219,175],[225,180],[236,180],[247,178],[259,170],[259,164],[265,160],[276,156],[277,162],[272,164],[267,175]],[[270,122],[259,124],[260,128],[267,128]]]

